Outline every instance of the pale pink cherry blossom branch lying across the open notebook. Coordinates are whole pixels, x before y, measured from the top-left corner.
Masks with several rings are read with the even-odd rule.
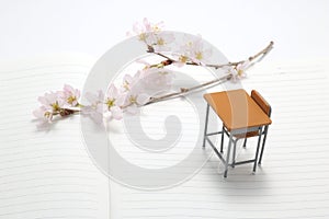
[[[72,114],[82,114],[89,116],[95,123],[104,123],[109,119],[122,119],[123,113],[137,113],[136,108],[148,104],[167,101],[180,96],[184,96],[194,91],[201,91],[206,88],[223,83],[228,80],[236,81],[245,77],[245,71],[254,65],[273,48],[273,42],[246,60],[227,62],[222,65],[205,64],[206,57],[211,54],[208,48],[203,47],[201,37],[193,38],[192,42],[181,45],[180,54],[164,55],[160,50],[166,48],[173,42],[174,37],[161,33],[159,24],[151,24],[145,19],[143,25],[134,27],[134,32],[138,35],[138,41],[141,41],[147,46],[147,53],[154,54],[163,58],[162,61],[154,65],[146,64],[147,67],[138,70],[134,76],[126,74],[123,78],[123,84],[120,89],[115,84],[110,84],[106,94],[103,91],[97,93],[86,93],[86,99],[90,103],[81,105],[78,100],[80,99],[80,91],[72,87],[65,84],[63,90],[56,92],[45,93],[38,97],[41,106],[33,112],[33,115],[42,123],[52,123],[53,117],[60,116],[67,117]],[[171,73],[164,67],[178,64],[177,66],[201,66],[214,69],[225,69],[225,74],[220,78],[194,85],[191,88],[180,88],[179,91],[167,93],[159,96],[149,96],[146,92],[148,88],[160,89],[168,88],[172,83]],[[145,88],[134,88],[143,81]],[[163,87],[164,85],[164,87]]]

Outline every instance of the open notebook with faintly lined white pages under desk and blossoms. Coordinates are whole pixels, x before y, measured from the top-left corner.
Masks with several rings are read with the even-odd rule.
[[[88,155],[79,116],[55,123],[49,130],[36,130],[31,114],[36,97],[64,83],[82,88],[94,61],[81,55],[58,55],[1,62],[1,219],[329,217],[328,59],[263,62],[249,71],[242,87],[258,90],[273,108],[263,164],[254,175],[250,164],[230,169],[223,178],[223,166],[213,155],[191,178],[157,191],[109,181]],[[223,87],[211,91],[216,90]],[[193,117],[184,100],[171,104],[181,106],[182,118]],[[144,128],[150,135],[163,135],[161,128],[151,130],[154,124],[163,124],[155,110],[170,112],[166,107],[145,108]],[[184,135],[193,134],[194,123],[204,118],[190,123],[182,136],[185,147],[163,157],[152,158],[128,147],[127,139],[121,139],[118,150],[138,165],[172,165],[189,152],[193,136]],[[125,131],[112,135],[113,140]],[[239,147],[238,159],[253,154],[254,146],[250,140],[247,149]],[[209,146],[200,150],[201,158],[212,153]]]

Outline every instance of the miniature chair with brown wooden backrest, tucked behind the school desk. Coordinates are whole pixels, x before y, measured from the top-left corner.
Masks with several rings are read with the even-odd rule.
[[[263,96],[252,90],[251,91],[251,99],[262,108],[262,111],[269,116],[271,117],[271,105],[263,99]],[[260,153],[260,158],[259,158],[259,164],[261,164],[262,161],[262,157],[263,157],[263,151],[264,151],[264,146],[265,146],[265,141],[266,141],[266,136],[268,136],[268,130],[269,130],[269,125],[265,126],[264,130],[262,131],[262,136],[263,137],[263,142],[262,142],[262,148],[261,148],[261,153]],[[247,145],[247,139],[251,138],[251,137],[258,137],[259,136],[259,131],[260,130],[256,130],[256,131],[249,131],[249,132],[245,132],[245,134],[239,134],[239,135],[234,135],[234,151],[232,151],[232,163],[231,166],[235,168],[236,165],[236,150],[237,150],[237,142],[240,139],[245,139],[243,141],[243,148],[246,148]],[[220,143],[220,152],[223,153],[223,145],[224,145],[224,132],[228,136],[228,130],[226,129],[226,127],[223,125],[223,129],[222,129],[222,143]],[[248,162],[248,161],[247,161]],[[239,162],[238,164],[242,164],[242,163],[247,163],[247,162]],[[253,170],[256,171],[256,169]]]

